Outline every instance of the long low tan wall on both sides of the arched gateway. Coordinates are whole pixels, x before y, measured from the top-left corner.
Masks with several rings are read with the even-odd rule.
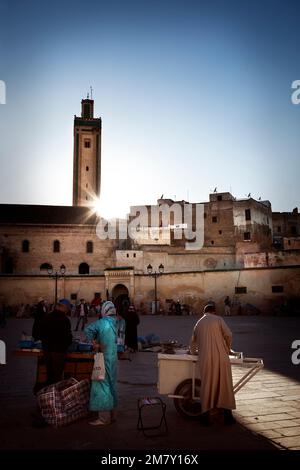
[[[121,279],[121,278],[120,278]],[[119,281],[118,281],[119,282]],[[120,281],[129,292],[137,307],[143,304],[150,310],[154,300],[154,278],[147,274],[125,276]],[[39,296],[54,298],[55,281],[48,276],[1,276],[0,299],[6,304],[36,302]],[[275,292],[272,288],[276,286]],[[58,297],[70,298],[71,293],[91,301],[95,292],[106,297],[107,284],[104,276],[65,276],[58,280]],[[246,293],[236,293],[236,288],[246,288]],[[158,299],[165,310],[166,300],[180,300],[200,312],[204,304],[213,299],[220,311],[227,295],[233,301],[233,309],[244,311],[251,307],[262,313],[272,313],[285,299],[300,297],[300,266],[288,268],[256,268],[228,271],[204,271],[163,274],[157,279]],[[109,292],[111,295],[111,292]],[[247,307],[248,306],[248,307]],[[246,309],[246,310],[245,310]]]

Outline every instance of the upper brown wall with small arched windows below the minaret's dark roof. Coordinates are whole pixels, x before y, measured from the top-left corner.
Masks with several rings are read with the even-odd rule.
[[[23,240],[29,241],[29,252],[22,252]],[[53,252],[53,242],[60,242],[60,251]],[[87,253],[87,242],[93,252]],[[115,241],[100,240],[95,226],[6,226],[1,227],[0,245],[13,259],[13,274],[41,274],[40,266],[49,263],[54,270],[64,264],[67,274],[78,274],[79,265],[87,263],[90,274],[103,274],[114,265]]]

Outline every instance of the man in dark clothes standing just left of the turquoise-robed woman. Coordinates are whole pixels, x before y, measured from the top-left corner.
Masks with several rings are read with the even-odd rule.
[[[67,299],[62,299],[43,321],[41,340],[48,385],[63,378],[67,349],[72,343],[71,322],[67,318],[70,312],[71,303]]]

